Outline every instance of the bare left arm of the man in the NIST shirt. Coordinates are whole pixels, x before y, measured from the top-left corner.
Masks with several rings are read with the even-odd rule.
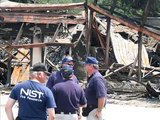
[[[12,99],[12,98],[8,98],[8,101],[5,105],[5,111],[8,117],[8,120],[14,120],[13,117],[13,112],[12,112],[12,107],[15,104],[16,100]]]

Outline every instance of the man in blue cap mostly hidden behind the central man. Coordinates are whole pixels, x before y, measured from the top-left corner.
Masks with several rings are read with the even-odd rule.
[[[65,58],[63,58],[62,62],[61,62],[61,68],[63,68],[63,66],[65,65],[70,65],[73,67],[74,65],[74,60],[71,56],[66,56]],[[75,81],[76,83],[78,83],[78,79],[75,75],[73,75],[72,77],[73,81]],[[60,71],[56,71],[53,72],[48,81],[46,86],[51,89],[55,84],[60,83],[60,82],[64,82],[64,78],[62,77],[62,73],[61,70]]]

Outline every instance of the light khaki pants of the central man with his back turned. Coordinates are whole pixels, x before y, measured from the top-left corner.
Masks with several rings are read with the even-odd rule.
[[[77,114],[56,114],[56,120],[78,120]]]

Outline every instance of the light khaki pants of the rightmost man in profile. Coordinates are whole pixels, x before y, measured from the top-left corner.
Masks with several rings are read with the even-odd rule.
[[[100,118],[97,118],[96,117],[96,111],[97,111],[97,108],[92,110],[89,115],[87,116],[87,120],[106,120],[105,118],[105,108],[102,110],[102,117]]]

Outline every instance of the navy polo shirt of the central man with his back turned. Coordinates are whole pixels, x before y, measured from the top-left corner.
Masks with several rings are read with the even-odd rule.
[[[79,105],[87,102],[83,89],[73,80],[58,83],[51,90],[57,105],[56,112],[75,112]]]

